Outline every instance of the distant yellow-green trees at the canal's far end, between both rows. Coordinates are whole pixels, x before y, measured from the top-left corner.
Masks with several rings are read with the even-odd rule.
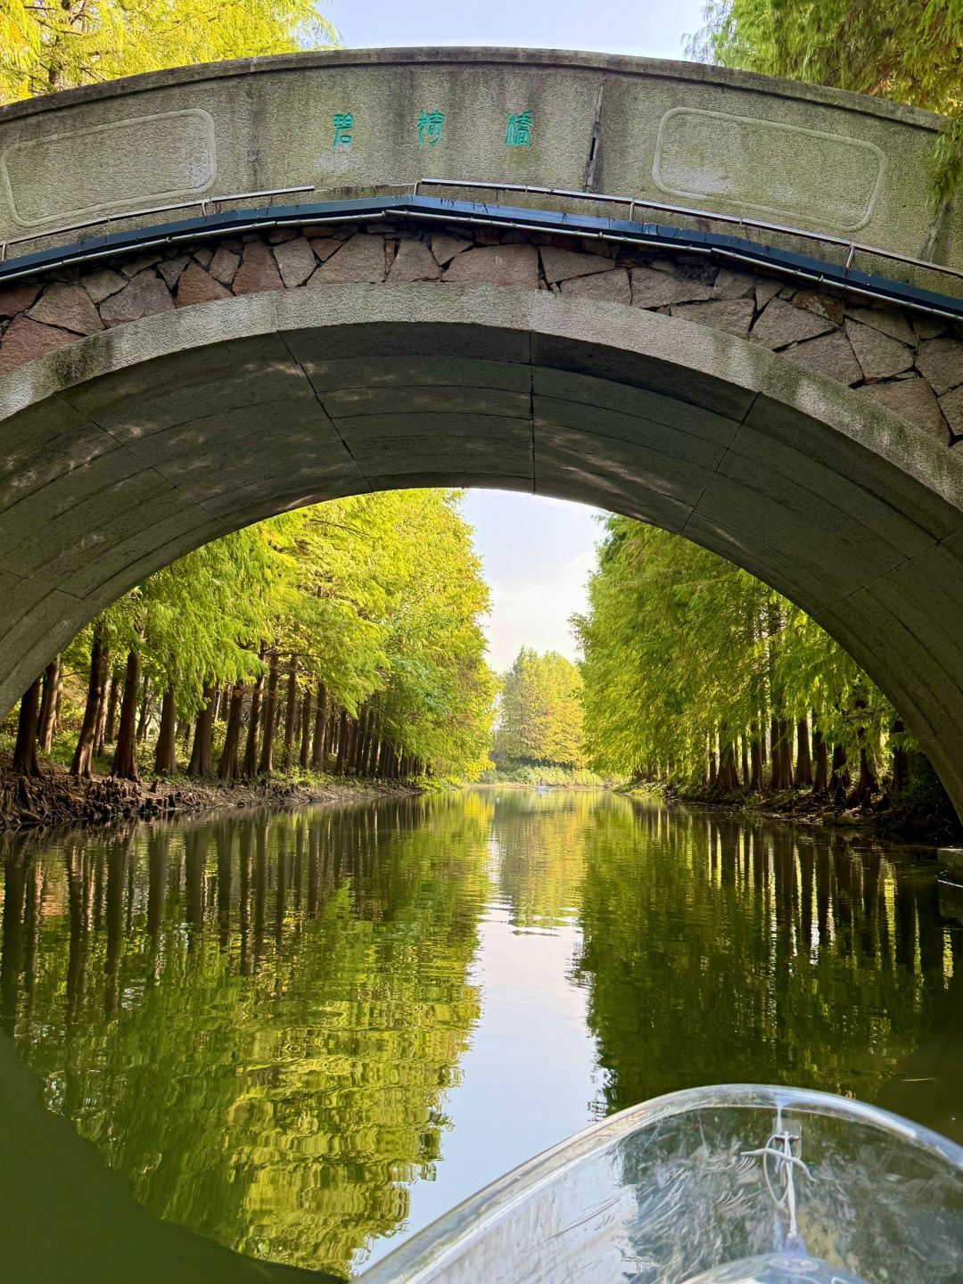
[[[492,758],[583,767],[582,740],[579,670],[557,651],[521,647],[502,679]]]

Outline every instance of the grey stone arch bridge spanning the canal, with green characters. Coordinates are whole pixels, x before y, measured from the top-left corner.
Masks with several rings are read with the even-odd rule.
[[[679,532],[799,602],[963,808],[963,216],[939,121],[515,50],[0,112],[0,707],[169,560],[360,490]]]

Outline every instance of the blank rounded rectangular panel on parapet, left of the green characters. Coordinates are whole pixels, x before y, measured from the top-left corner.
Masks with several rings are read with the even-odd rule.
[[[216,177],[214,122],[200,108],[51,134],[0,157],[6,204],[22,227],[199,195]]]

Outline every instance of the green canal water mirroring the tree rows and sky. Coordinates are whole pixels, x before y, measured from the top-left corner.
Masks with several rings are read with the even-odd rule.
[[[63,1117],[46,1188],[78,1134],[87,1185],[249,1257],[357,1274],[698,1084],[963,1140],[963,926],[908,850],[498,790],[5,841],[0,1054]]]

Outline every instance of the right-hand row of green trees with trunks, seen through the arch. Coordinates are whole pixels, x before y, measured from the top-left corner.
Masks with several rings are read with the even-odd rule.
[[[597,769],[716,796],[887,786],[940,811],[896,710],[805,612],[677,535],[610,517],[575,618],[586,749]]]

